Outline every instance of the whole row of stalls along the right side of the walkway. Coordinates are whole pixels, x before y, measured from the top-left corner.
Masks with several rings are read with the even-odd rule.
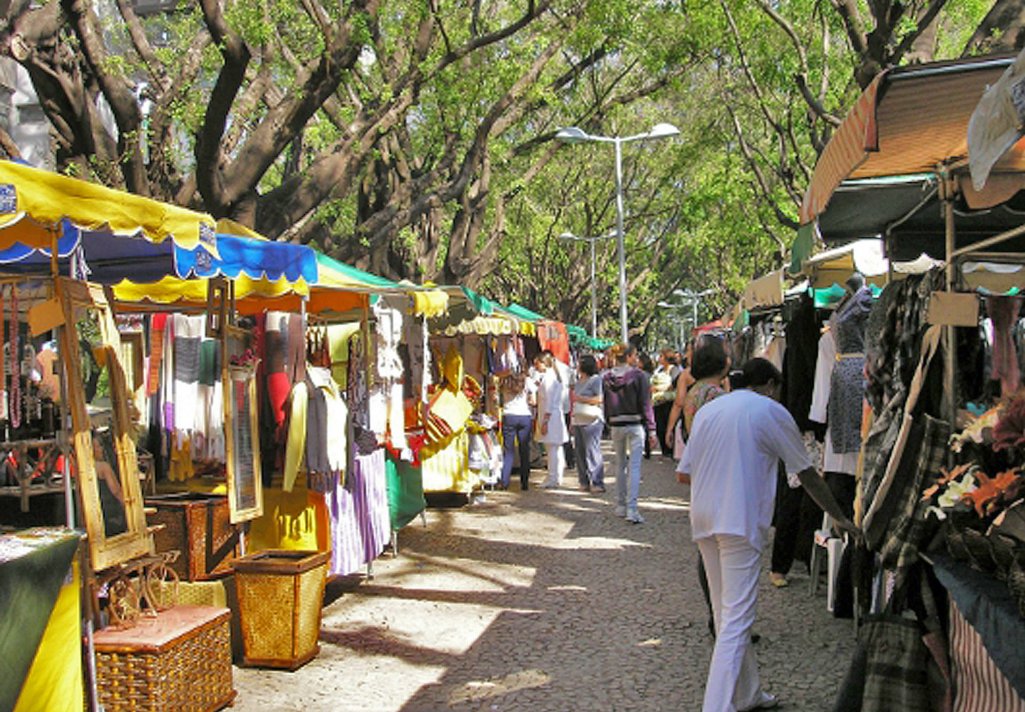
[[[820,157],[791,264],[724,319],[735,359],[783,370],[784,405],[864,532],[812,544],[836,559],[828,604],[859,635],[837,709],[883,709],[852,694],[879,685],[907,708],[1025,709],[1023,77],[1025,55],[883,72]],[[908,619],[911,652],[880,657]]]

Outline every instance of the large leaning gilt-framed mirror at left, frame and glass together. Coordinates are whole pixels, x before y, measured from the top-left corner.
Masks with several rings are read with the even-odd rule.
[[[95,571],[152,553],[121,343],[104,289],[59,278],[72,449]]]

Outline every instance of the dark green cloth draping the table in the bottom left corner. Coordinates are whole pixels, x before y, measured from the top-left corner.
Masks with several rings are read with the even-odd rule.
[[[0,563],[0,710],[14,709],[77,550],[78,535],[69,532]]]

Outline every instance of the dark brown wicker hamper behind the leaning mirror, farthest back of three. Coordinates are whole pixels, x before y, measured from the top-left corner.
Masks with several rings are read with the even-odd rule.
[[[154,535],[158,552],[177,549],[181,552],[170,566],[182,581],[206,581],[231,573],[232,559],[239,555],[238,545],[232,545],[236,535],[231,522],[228,498],[186,492],[175,495],[147,497],[146,506],[157,511],[149,515],[149,523],[163,525]],[[211,567],[215,554],[223,547],[227,554]]]

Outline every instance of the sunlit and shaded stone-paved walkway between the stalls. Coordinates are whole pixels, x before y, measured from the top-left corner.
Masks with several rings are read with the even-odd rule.
[[[614,515],[614,483],[580,493],[570,470],[565,484],[428,509],[397,557],[324,609],[317,659],[236,668],[234,709],[699,710],[711,637],[673,463],[644,463],[644,525]],[[763,577],[756,651],[781,709],[830,709],[853,651],[823,589]]]

